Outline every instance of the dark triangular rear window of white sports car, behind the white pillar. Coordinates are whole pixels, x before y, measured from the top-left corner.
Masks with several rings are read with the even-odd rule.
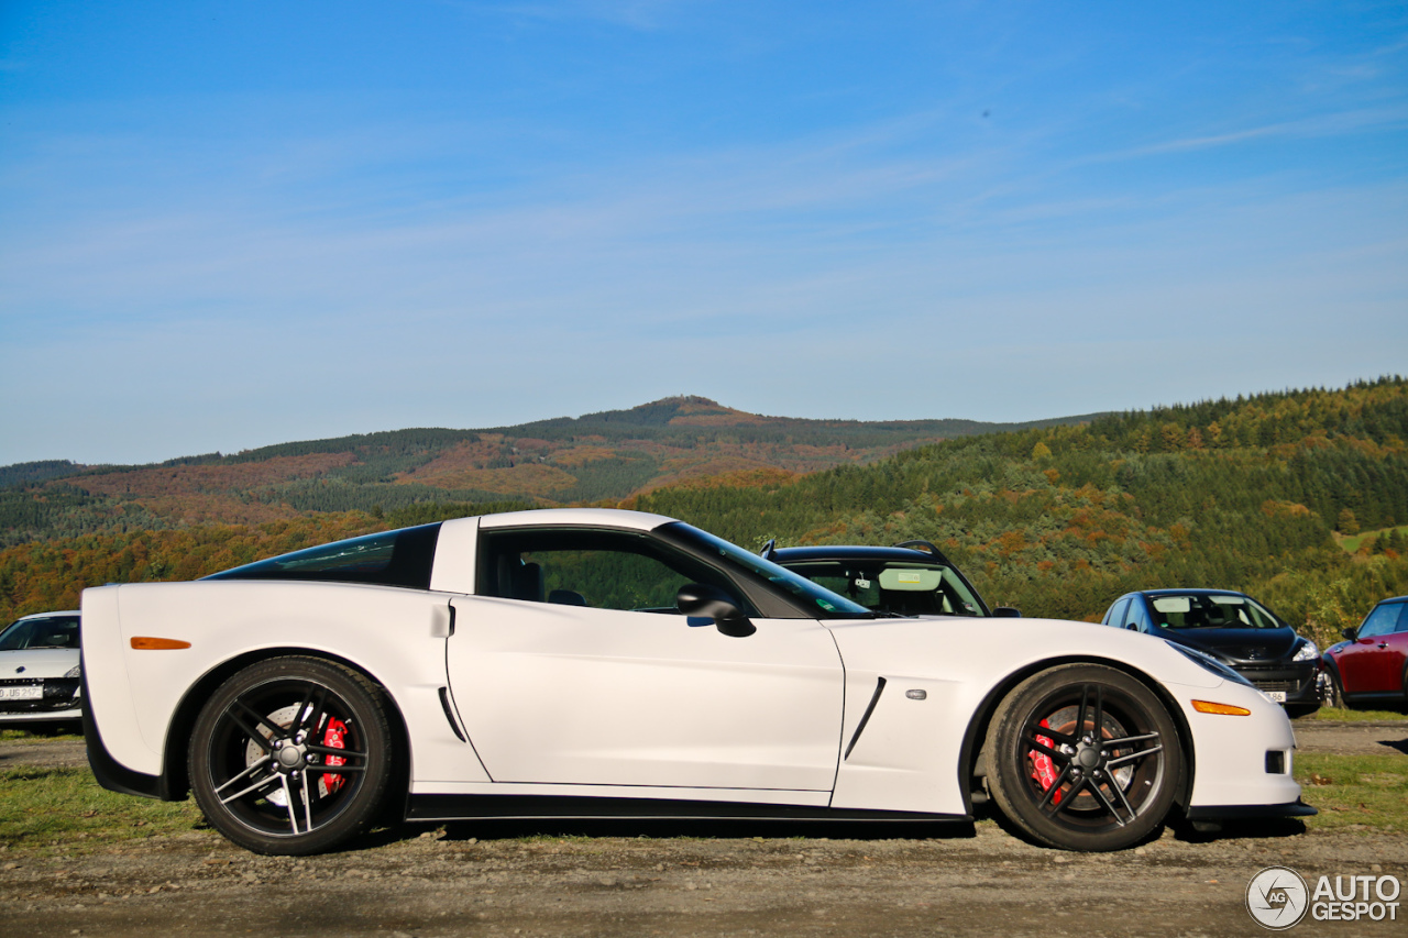
[[[306,551],[255,561],[207,580],[313,580],[372,583],[428,590],[439,524],[367,534]]]

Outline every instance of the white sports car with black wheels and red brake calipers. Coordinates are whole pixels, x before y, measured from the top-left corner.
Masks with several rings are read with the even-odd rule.
[[[89,761],[262,853],[398,818],[1314,814],[1280,707],[1101,625],[876,618],[684,523],[456,518],[83,593]],[[986,789],[986,792],[984,792]]]

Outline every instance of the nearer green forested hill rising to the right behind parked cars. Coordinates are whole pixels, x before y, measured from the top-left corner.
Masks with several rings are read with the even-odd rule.
[[[1090,618],[1160,586],[1249,592],[1322,641],[1408,593],[1408,383],[952,439],[874,466],[673,486],[635,507],[759,546],[939,544],[990,601]]]

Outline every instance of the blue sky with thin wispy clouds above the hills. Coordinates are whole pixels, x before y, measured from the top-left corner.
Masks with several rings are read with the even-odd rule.
[[[0,3],[0,465],[1408,373],[1394,3]]]

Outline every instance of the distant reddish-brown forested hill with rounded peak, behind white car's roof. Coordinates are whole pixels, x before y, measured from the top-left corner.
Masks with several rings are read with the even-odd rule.
[[[260,524],[324,513],[504,500],[620,500],[684,479],[793,477],[1031,424],[763,417],[705,397],[487,430],[400,430],[146,466],[0,468],[0,546],[100,531]]]

